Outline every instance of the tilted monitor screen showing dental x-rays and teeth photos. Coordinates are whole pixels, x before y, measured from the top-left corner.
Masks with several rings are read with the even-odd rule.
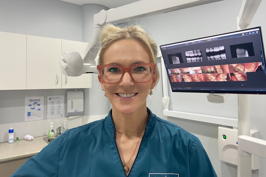
[[[160,49],[173,92],[266,94],[260,27]]]

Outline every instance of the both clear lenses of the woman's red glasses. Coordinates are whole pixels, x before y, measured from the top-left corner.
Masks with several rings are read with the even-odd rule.
[[[152,68],[148,65],[139,65],[132,67],[131,76],[136,82],[147,82],[152,77]],[[123,70],[117,66],[108,66],[102,68],[102,78],[107,83],[119,82],[123,75]]]

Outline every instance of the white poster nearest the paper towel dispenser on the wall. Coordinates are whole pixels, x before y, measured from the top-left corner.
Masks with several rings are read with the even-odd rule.
[[[64,116],[64,95],[47,96],[47,119]]]

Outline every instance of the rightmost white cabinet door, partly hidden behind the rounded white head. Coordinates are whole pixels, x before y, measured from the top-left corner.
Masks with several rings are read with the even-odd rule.
[[[81,56],[83,55],[88,43],[62,40],[62,53],[66,50],[75,49]],[[91,74],[81,74],[77,77],[66,76],[62,74],[62,88],[90,88]]]

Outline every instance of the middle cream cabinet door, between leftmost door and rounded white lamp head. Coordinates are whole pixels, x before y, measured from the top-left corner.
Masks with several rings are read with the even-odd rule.
[[[61,39],[27,35],[27,89],[60,89]]]

